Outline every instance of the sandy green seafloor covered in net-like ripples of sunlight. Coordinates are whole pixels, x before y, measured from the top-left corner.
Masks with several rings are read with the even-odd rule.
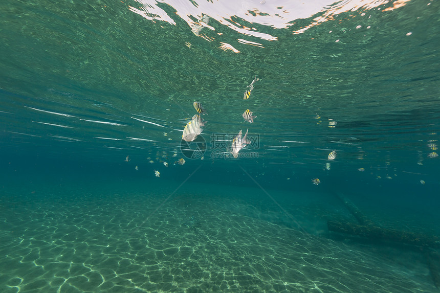
[[[328,194],[269,191],[290,217],[260,190],[174,189],[3,187],[0,291],[437,291],[419,251],[331,237],[350,215]]]

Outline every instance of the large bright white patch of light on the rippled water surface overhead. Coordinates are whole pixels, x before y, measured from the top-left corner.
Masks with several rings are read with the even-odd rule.
[[[133,11],[146,19],[153,22],[166,21],[171,25],[176,22],[162,8],[158,6],[167,4],[176,10],[175,14],[185,20],[194,34],[204,36],[203,27],[214,30],[213,27],[204,21],[207,16],[215,19],[220,24],[233,29],[244,35],[257,37],[265,40],[277,40],[276,36],[268,33],[259,32],[249,24],[258,24],[262,26],[270,26],[274,29],[288,29],[295,25],[297,19],[307,19],[314,15],[318,17],[312,19],[309,25],[293,31],[293,34],[300,34],[306,30],[321,24],[327,20],[335,19],[335,16],[343,12],[354,12],[358,9],[373,9],[381,5],[389,4],[389,0],[223,0],[223,1],[206,1],[206,0],[135,0],[140,3],[138,8],[128,6]],[[392,6],[384,8],[382,11],[391,11],[406,5],[410,0],[395,1]],[[194,20],[195,19],[195,20]],[[241,23],[240,23],[241,22]],[[207,30],[209,31],[209,30]],[[212,40],[209,38],[209,40]],[[243,40],[241,41],[243,42]],[[252,44],[252,43],[249,43]]]

